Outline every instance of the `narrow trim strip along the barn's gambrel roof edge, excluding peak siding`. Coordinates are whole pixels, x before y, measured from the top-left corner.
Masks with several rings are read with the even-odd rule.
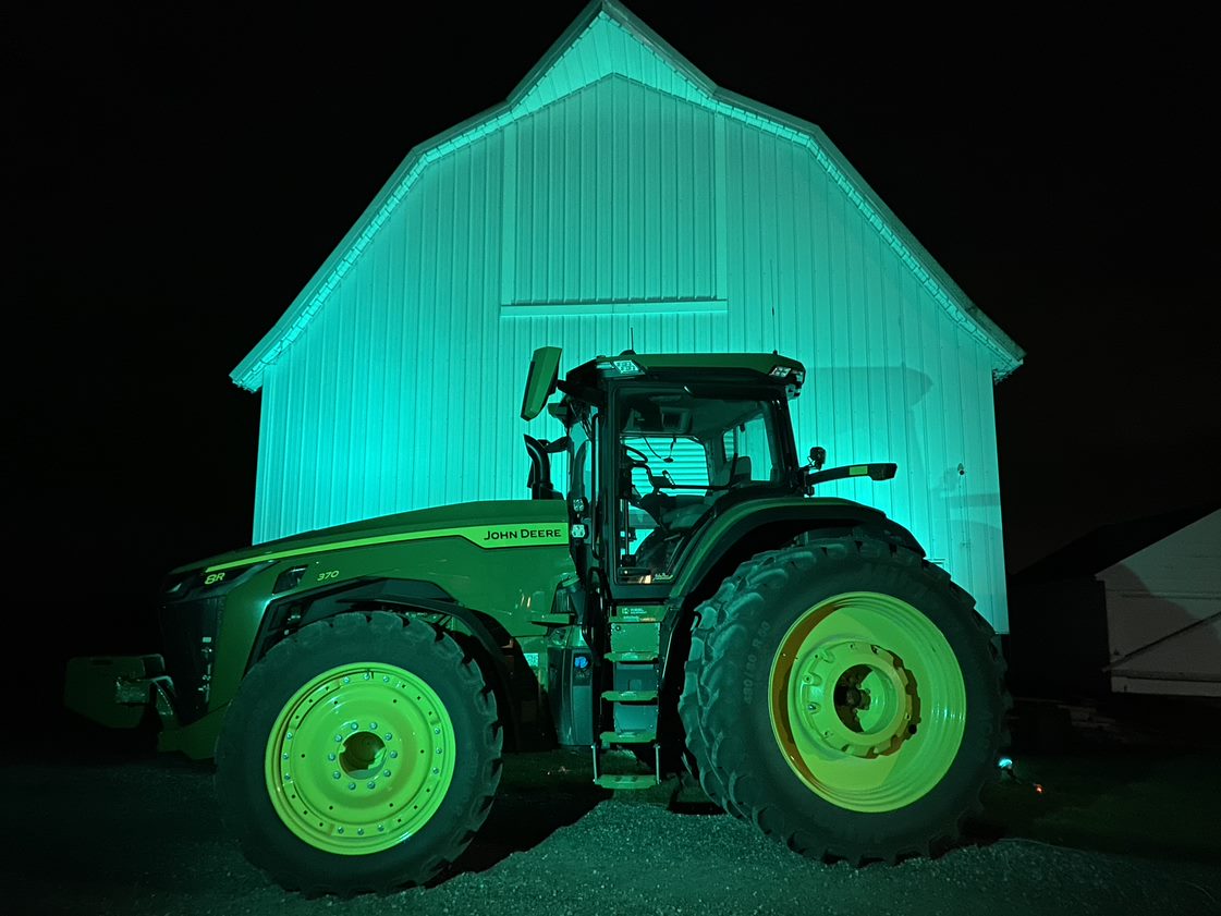
[[[568,92],[545,101],[531,100],[531,95],[559,64],[564,54],[600,17],[606,17],[607,21],[628,32],[639,44],[662,59],[695,90],[692,100],[696,103],[702,104],[714,114],[751,125],[805,147],[946,314],[993,354],[993,377],[995,381],[1000,381],[1022,365],[1026,352],[971,302],[969,297],[958,288],[957,283],[950,278],[895,214],[873,193],[868,183],[821,128],[808,121],[720,88],[624,6],[614,0],[592,0],[523,77],[505,101],[493,105],[411,148],[399,167],[374,197],[372,203],[336,245],[280,320],[230,373],[230,377],[238,387],[247,391],[258,391],[261,387],[264,369],[275,363],[288,346],[300,336],[425,169],[487,133],[610,75],[602,73],[590,77],[580,84],[570,85]],[[662,87],[652,88],[667,92]]]

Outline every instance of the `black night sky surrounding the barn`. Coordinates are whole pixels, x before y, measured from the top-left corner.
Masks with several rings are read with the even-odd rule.
[[[249,542],[259,398],[228,371],[408,150],[502,101],[582,5],[5,13],[23,601],[71,605],[76,644],[151,649],[121,642],[162,573]],[[629,9],[716,83],[819,125],[1027,351],[996,390],[1011,572],[1221,498],[1203,22]]]

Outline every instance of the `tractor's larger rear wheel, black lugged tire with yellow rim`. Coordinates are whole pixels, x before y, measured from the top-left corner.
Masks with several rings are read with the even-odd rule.
[[[1009,702],[973,603],[882,541],[744,563],[697,608],[679,702],[705,790],[816,859],[951,845],[999,773]]]

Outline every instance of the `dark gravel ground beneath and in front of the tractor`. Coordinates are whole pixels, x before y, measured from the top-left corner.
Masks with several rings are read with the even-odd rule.
[[[492,817],[430,888],[383,898],[305,899],[249,866],[223,834],[211,769],[177,757],[5,767],[9,912],[321,914],[1221,914],[1221,867],[1070,849],[1000,835],[937,860],[862,870],[803,860],[676,784],[612,798],[584,755],[508,760]],[[564,771],[564,772],[562,772]],[[1211,772],[1211,769],[1209,769]],[[1012,785],[1001,807],[1033,802]],[[1215,789],[1212,790],[1215,795]],[[1209,804],[1215,805],[1215,799]],[[1009,833],[1004,824],[994,833]],[[1116,835],[1110,834],[1111,846]],[[1122,848],[1123,838],[1118,837]],[[1165,850],[1162,850],[1165,852]],[[1194,860],[1194,861],[1193,861]],[[15,907],[15,909],[7,909]]]

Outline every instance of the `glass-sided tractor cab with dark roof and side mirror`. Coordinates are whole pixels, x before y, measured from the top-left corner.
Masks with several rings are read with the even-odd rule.
[[[578,568],[602,570],[613,591],[664,597],[694,536],[725,508],[805,492],[788,408],[805,381],[796,360],[628,351],[560,380],[559,353],[535,353],[523,399],[530,419],[563,393],[548,410],[565,435],[526,436],[530,491],[568,500]],[[565,480],[552,480],[556,454]]]

